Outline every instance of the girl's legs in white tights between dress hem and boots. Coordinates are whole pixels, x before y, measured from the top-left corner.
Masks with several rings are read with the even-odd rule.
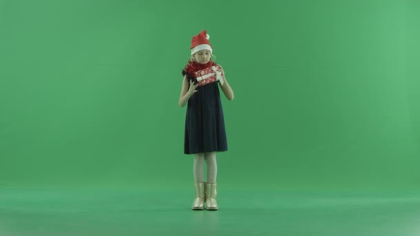
[[[194,181],[195,183],[204,182],[204,159],[207,164],[207,183],[215,184],[218,175],[216,152],[194,154]]]

